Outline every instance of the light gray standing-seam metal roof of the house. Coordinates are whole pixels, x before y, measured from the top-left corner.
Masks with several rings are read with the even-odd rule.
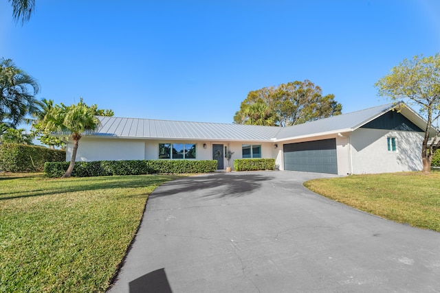
[[[408,106],[406,106],[408,107]],[[169,121],[120,117],[98,117],[100,128],[92,135],[139,139],[191,139],[211,141],[283,141],[338,132],[350,132],[394,108],[393,104],[376,106],[296,126],[252,126],[206,122]],[[423,124],[409,107],[406,116],[417,125]],[[423,129],[423,128],[422,128]]]

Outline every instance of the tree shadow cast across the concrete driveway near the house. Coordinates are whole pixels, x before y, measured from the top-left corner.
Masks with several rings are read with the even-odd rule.
[[[272,179],[272,176],[260,172],[253,173],[217,173],[201,176],[190,176],[173,180],[155,189],[149,196],[159,198],[185,192],[203,191],[203,198],[238,197],[252,193],[261,187],[261,182]]]

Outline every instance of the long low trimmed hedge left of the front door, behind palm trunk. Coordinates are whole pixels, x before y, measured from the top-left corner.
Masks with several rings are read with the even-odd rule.
[[[45,163],[45,176],[61,177],[70,162]],[[217,170],[217,161],[186,160],[127,160],[127,161],[91,161],[76,162],[72,176],[112,176],[142,174],[186,174],[208,173]]]

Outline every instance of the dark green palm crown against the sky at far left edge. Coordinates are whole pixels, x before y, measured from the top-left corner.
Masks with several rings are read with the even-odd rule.
[[[36,109],[40,86],[32,76],[19,69],[10,59],[0,60],[0,122],[16,126]]]

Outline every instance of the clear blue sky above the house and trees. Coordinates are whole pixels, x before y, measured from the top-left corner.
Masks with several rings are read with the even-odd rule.
[[[439,0],[0,0],[0,57],[56,104],[118,117],[231,123],[249,91],[311,80],[343,113],[388,103],[375,82],[440,51]]]

